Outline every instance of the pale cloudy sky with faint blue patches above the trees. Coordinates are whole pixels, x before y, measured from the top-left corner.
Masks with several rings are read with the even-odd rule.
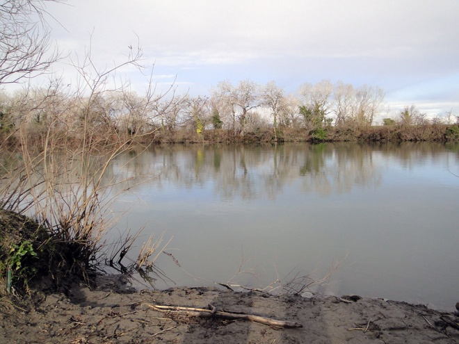
[[[459,113],[458,0],[67,0],[48,10],[61,51],[83,56],[91,40],[92,58],[111,66],[139,41],[155,80],[191,95],[223,80],[296,92],[330,79],[379,86],[393,107]]]

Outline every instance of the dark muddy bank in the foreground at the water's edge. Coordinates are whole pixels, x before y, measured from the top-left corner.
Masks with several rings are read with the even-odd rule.
[[[405,302],[216,288],[136,291],[126,282],[105,276],[97,287],[35,291],[27,302],[2,297],[0,343],[459,343],[458,316]],[[202,318],[189,308],[209,311],[198,310]],[[282,323],[220,318],[221,311]]]

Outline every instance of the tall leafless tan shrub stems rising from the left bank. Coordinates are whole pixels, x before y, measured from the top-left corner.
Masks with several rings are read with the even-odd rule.
[[[58,268],[89,281],[89,272],[103,261],[121,261],[138,237],[128,233],[108,251],[106,233],[120,216],[111,210],[120,196],[112,188],[127,180],[107,172],[133,142],[152,132],[128,132],[115,126],[104,117],[101,106],[104,96],[113,93],[122,101],[130,97],[129,85],[116,89],[106,85],[120,67],[140,67],[140,56],[140,50],[134,51],[126,63],[97,71],[88,53],[80,66],[75,65],[81,76],[76,93],[65,94],[59,82],[51,83],[47,92],[34,92],[33,99],[31,91],[24,92],[17,112],[24,120],[17,122],[13,133],[0,138],[0,147],[9,149],[0,156],[0,208],[29,215],[47,229],[56,250],[53,259],[61,260],[50,265],[53,276],[56,272],[51,269]],[[129,108],[128,116],[150,111],[150,102],[163,97],[154,97],[153,92],[154,88],[148,89],[136,107]],[[125,104],[120,106],[124,109]],[[10,146],[13,136],[17,145]],[[157,242],[150,238],[132,267],[151,268],[161,253],[162,240],[163,236]]]

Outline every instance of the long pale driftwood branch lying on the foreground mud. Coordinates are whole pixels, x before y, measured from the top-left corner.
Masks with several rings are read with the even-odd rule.
[[[162,306],[160,304],[147,304],[152,309],[156,309],[161,312],[176,312],[176,313],[186,313],[188,316],[195,316],[199,318],[220,318],[227,320],[250,320],[253,322],[259,322],[260,324],[274,326],[274,327],[303,327],[303,325],[298,322],[289,322],[282,320],[275,320],[271,318],[265,318],[263,316],[255,316],[253,314],[244,314],[244,313],[230,313],[225,311],[217,311],[216,308],[212,305],[210,309],[201,309],[193,307],[179,307],[179,306]]]

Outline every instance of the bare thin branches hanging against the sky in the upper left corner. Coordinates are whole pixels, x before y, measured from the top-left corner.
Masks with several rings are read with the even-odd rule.
[[[45,2],[5,0],[0,4],[0,85],[46,72],[59,58],[50,40]]]

